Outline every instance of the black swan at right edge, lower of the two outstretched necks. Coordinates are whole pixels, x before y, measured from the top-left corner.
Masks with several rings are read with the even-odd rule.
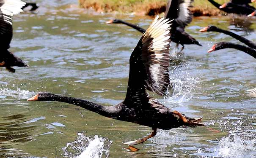
[[[249,54],[250,56],[253,56],[254,58],[256,58],[256,50],[247,46],[242,46],[239,44],[234,44],[234,43],[228,43],[228,42],[219,42],[216,43],[212,46],[211,49],[209,49],[208,53],[212,52],[212,51],[217,51],[220,49],[226,49],[226,48],[234,48],[237,49],[239,51],[243,51],[247,54]],[[256,93],[256,88],[254,89],[248,89],[247,91],[250,91],[252,93]]]

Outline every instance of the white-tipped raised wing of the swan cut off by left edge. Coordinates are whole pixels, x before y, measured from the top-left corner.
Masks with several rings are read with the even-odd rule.
[[[12,38],[12,16],[22,11],[26,3],[21,0],[0,0],[0,48],[10,48]]]

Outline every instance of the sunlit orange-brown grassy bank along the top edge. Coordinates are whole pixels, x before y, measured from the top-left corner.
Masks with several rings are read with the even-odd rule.
[[[228,0],[216,0],[223,4]],[[167,0],[79,0],[83,8],[93,8],[98,12],[135,13],[140,15],[154,16],[165,11]],[[223,14],[208,0],[195,0],[193,3],[194,16],[216,16]]]

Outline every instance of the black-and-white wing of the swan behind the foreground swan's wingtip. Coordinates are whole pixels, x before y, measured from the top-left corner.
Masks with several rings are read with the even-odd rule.
[[[192,7],[194,0],[168,0],[165,16],[168,19],[175,19],[180,27],[185,27],[193,19],[193,13],[189,7]]]

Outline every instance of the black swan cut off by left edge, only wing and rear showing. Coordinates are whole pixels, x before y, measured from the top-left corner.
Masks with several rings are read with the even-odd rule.
[[[15,72],[14,66],[28,67],[20,58],[14,56],[8,49],[13,35],[12,16],[22,11],[26,3],[21,0],[0,1],[0,67],[6,67],[9,72]]]

